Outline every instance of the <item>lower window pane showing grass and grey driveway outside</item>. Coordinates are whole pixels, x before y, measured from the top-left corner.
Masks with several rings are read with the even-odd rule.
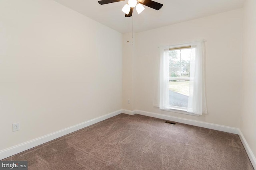
[[[170,80],[170,106],[188,107],[189,80]]]

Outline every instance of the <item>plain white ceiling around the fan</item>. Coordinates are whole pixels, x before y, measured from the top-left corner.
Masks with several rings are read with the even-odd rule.
[[[128,0],[100,5],[98,0],[55,0],[95,21],[98,21],[120,33],[128,30],[128,18],[124,17],[122,7]],[[133,17],[129,18],[129,31],[146,31],[182,21],[202,18],[221,12],[243,7],[244,0],[154,0],[164,6],[154,10],[147,6],[138,15],[134,10]]]

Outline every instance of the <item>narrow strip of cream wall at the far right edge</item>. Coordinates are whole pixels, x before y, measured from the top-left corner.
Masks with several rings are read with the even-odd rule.
[[[240,129],[256,156],[256,1],[244,4],[242,116]],[[256,160],[254,160],[256,161]],[[255,164],[255,162],[254,162]]]

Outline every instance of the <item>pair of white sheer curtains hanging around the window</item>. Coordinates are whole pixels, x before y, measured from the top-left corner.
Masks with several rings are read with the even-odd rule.
[[[154,94],[154,106],[170,109],[169,96],[169,54],[170,48],[191,46],[190,90],[188,97],[188,113],[207,114],[205,82],[204,82],[204,41],[159,47],[158,84]]]

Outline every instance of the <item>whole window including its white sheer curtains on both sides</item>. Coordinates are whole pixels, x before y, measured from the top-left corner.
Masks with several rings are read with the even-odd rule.
[[[160,109],[207,113],[204,88],[204,41],[160,47]]]

